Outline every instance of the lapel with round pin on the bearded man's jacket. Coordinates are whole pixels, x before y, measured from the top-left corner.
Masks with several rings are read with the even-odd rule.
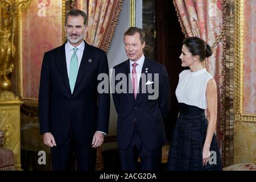
[[[84,52],[82,53],[82,60],[80,63],[79,72],[77,74],[76,84],[75,84],[73,94],[76,92],[76,88],[80,84],[82,77],[84,77],[89,65],[93,64],[94,62],[93,56],[92,56],[93,55],[92,47],[89,44],[87,44],[85,41],[84,43],[85,43]]]

